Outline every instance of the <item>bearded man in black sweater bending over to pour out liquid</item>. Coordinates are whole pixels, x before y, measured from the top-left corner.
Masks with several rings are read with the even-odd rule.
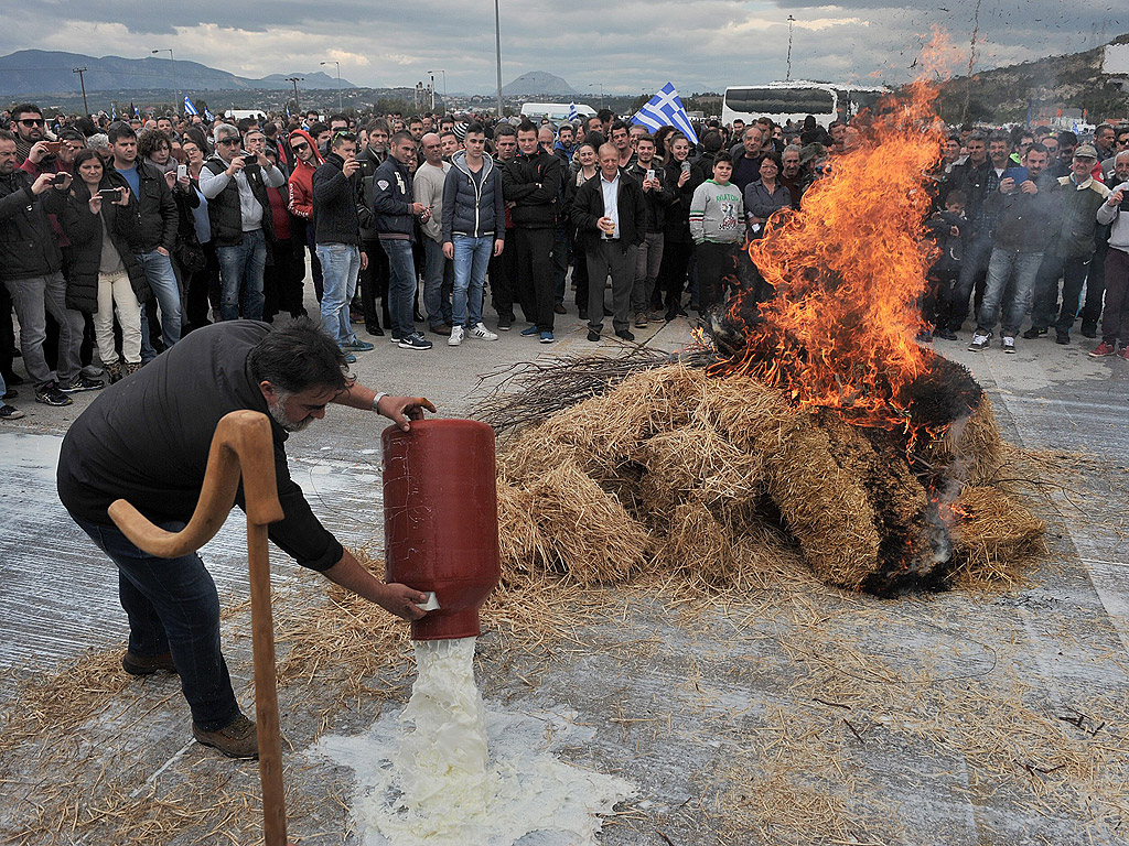
[[[418,619],[427,597],[385,584],[342,548],[314,517],[290,478],[289,432],[325,416],[336,403],[375,411],[409,429],[427,400],[377,394],[345,374],[344,356],[307,319],[271,329],[230,320],[196,329],[135,376],[111,386],[71,424],[59,456],[59,499],[75,522],[119,571],[119,594],[130,624],[123,669],[134,676],[169,670],[192,711],[193,737],[234,758],[259,755],[255,724],[231,690],[220,651],[219,596],[195,553],[156,558],[110,519],[119,499],[168,531],[184,528],[200,497],[212,435],[229,412],[251,409],[271,421],[274,476],[285,518],[269,532],[303,566]],[[242,490],[236,502],[243,506]]]

